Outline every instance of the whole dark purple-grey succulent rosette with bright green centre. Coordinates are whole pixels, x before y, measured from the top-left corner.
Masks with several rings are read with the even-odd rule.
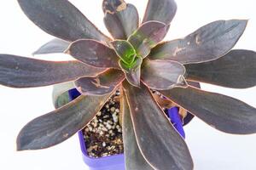
[[[255,108],[189,83],[227,88],[256,84],[256,53],[231,50],[247,20],[217,20],[187,37],[162,42],[177,10],[174,0],[148,0],[142,23],[132,4],[103,0],[104,23],[111,38],[67,0],[18,2],[30,20],[57,37],[34,54],[66,53],[77,60],[54,62],[1,54],[0,83],[33,88],[67,82],[82,94],[29,122],[18,136],[18,150],[44,149],[70,138],[118,88],[126,169],[193,169],[187,145],[152,90],[220,131],[256,133]],[[68,88],[58,93],[64,89]]]

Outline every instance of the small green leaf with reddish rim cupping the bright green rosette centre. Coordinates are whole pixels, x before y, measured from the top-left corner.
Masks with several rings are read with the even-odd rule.
[[[109,42],[109,44],[126,65],[131,65],[134,62],[137,54],[130,42],[125,40],[115,40]]]

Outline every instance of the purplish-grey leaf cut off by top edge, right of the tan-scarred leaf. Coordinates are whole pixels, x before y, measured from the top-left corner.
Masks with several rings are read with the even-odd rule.
[[[146,13],[143,22],[157,20],[169,25],[177,11],[177,4],[174,0],[148,0]]]

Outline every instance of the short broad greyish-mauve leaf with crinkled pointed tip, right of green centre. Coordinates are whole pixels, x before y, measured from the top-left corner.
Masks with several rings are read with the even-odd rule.
[[[156,90],[186,88],[188,84],[183,77],[185,72],[185,67],[177,61],[144,59],[142,81],[148,88]]]

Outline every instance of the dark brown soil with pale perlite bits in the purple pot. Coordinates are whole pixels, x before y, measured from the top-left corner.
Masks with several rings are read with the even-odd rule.
[[[88,156],[113,156],[124,152],[122,127],[119,124],[119,91],[83,129]]]

